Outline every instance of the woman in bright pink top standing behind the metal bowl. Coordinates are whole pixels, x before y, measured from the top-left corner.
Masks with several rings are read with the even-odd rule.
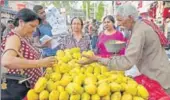
[[[103,19],[104,31],[100,33],[97,43],[97,55],[101,57],[110,57],[113,53],[110,53],[106,50],[105,42],[109,40],[118,40],[122,42],[126,42],[126,38],[124,38],[123,34],[116,30],[114,24],[115,20],[113,16],[108,15]],[[123,55],[125,53],[125,48],[122,48],[117,54]]]

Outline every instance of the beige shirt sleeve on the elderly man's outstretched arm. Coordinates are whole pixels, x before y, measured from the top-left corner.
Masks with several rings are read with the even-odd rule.
[[[107,65],[110,70],[128,70],[137,64],[142,57],[145,34],[138,30],[132,33],[125,55],[112,58],[99,58],[98,61]]]

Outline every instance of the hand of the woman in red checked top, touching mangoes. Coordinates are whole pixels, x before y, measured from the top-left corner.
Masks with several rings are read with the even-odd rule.
[[[43,58],[39,61],[39,67],[51,67],[56,62],[54,56]]]

